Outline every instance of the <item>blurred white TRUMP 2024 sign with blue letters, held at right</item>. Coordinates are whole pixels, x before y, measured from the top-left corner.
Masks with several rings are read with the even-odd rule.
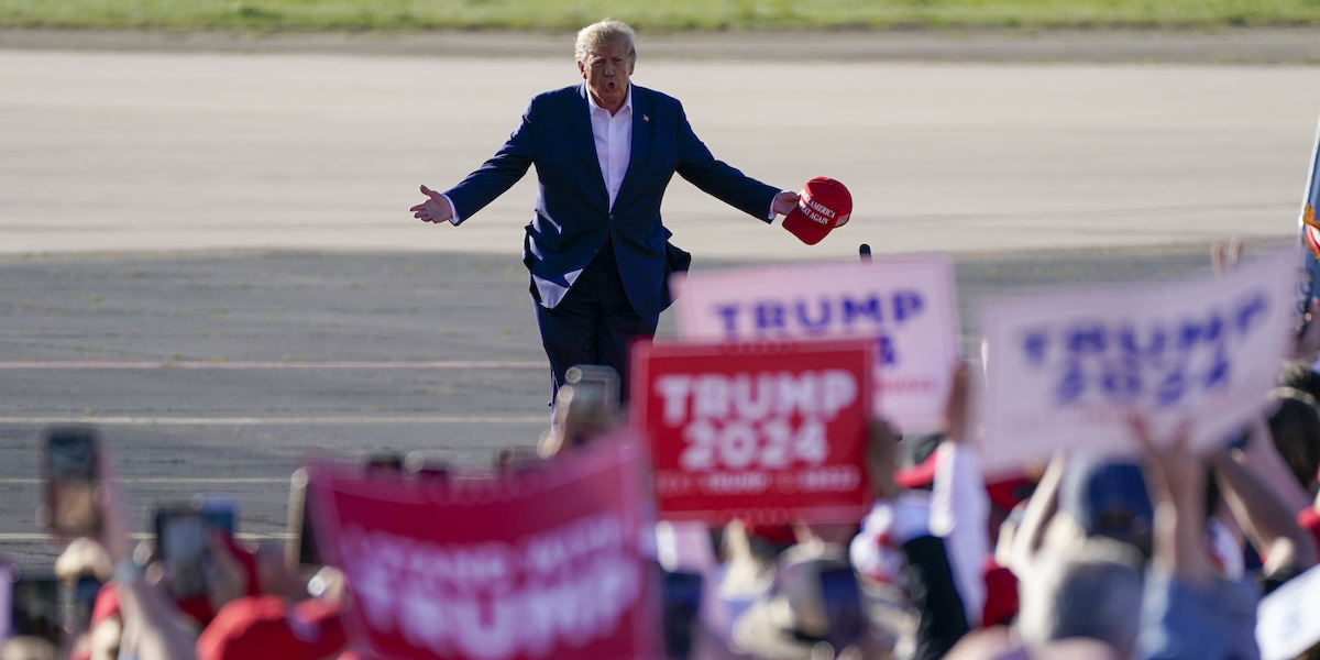
[[[1134,451],[1181,420],[1193,446],[1225,441],[1267,403],[1296,317],[1294,251],[1224,277],[999,298],[982,308],[987,471],[1056,449]]]

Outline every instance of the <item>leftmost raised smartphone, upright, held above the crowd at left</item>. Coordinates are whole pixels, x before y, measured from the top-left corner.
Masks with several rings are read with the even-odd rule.
[[[96,486],[100,440],[90,426],[53,426],[41,433],[41,474],[46,519],[61,536],[95,536],[100,531]]]

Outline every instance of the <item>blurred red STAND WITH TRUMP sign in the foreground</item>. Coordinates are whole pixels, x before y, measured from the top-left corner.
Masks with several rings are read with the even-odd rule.
[[[644,451],[626,432],[450,482],[310,466],[317,543],[347,577],[354,647],[401,660],[661,655]]]

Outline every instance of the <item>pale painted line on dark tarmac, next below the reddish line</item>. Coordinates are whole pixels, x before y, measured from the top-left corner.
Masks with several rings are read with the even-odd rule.
[[[437,414],[429,417],[0,417],[0,425],[24,424],[91,424],[104,426],[326,426],[326,425],[401,425],[401,424],[549,424],[550,416],[469,416]]]

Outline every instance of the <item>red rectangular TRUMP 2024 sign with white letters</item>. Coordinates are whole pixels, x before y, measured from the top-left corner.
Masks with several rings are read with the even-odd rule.
[[[871,339],[640,343],[632,420],[667,520],[857,523]]]

